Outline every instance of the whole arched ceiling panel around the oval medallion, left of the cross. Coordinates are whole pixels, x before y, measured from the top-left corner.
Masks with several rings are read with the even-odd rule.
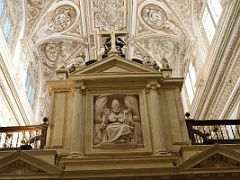
[[[79,37],[80,8],[71,1],[61,1],[52,4],[38,19],[38,23],[32,30],[31,39],[37,44],[44,38],[57,36],[65,32],[73,31],[68,35]]]

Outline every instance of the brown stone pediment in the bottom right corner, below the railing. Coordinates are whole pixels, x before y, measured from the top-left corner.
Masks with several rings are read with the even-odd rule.
[[[214,145],[178,166],[182,170],[238,168],[240,169],[240,153],[223,145]]]

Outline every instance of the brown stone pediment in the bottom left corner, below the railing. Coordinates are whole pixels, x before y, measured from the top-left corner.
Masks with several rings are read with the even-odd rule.
[[[59,175],[62,170],[25,152],[16,151],[0,159],[0,176]]]

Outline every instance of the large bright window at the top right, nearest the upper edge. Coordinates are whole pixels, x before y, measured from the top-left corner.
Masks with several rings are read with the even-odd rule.
[[[207,5],[202,16],[202,23],[210,43],[215,34],[221,12],[222,6],[219,0],[207,0]]]

